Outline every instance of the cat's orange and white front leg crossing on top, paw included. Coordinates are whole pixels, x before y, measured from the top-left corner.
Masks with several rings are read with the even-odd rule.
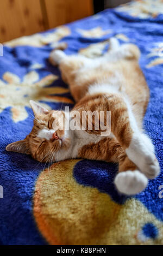
[[[159,175],[160,166],[152,142],[137,127],[129,103],[118,94],[111,94],[108,104],[112,133],[141,172],[148,178],[155,178]]]

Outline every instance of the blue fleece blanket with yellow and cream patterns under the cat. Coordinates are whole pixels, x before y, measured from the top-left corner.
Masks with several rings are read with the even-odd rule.
[[[0,243],[3,245],[163,244],[163,2],[137,1],[65,26],[12,40],[0,57]],[[49,109],[73,107],[49,53],[100,56],[109,38],[134,43],[151,91],[144,127],[161,173],[134,197],[117,192],[117,165],[73,159],[48,165],[5,151],[33,127],[29,100]]]

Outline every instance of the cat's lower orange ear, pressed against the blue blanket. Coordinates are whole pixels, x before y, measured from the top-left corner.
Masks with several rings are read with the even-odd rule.
[[[18,152],[22,154],[30,154],[29,145],[27,139],[12,142],[5,148],[7,151]]]

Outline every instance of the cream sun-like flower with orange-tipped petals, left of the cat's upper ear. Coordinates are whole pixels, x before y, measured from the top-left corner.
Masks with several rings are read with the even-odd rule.
[[[39,74],[31,71],[21,81],[17,75],[6,72],[3,75],[3,80],[7,84],[0,80],[0,112],[10,106],[12,119],[14,122],[18,122],[28,117],[25,107],[30,107],[29,100],[31,99],[35,100],[35,102],[73,103],[72,100],[66,97],[56,95],[68,92],[67,88],[46,87],[57,79],[58,76],[50,74],[40,80]],[[47,109],[51,109],[48,104],[44,103],[42,105]]]

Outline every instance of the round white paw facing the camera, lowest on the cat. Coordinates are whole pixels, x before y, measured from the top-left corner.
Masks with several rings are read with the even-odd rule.
[[[126,195],[135,195],[147,187],[148,179],[140,171],[123,171],[114,181],[118,191]]]

